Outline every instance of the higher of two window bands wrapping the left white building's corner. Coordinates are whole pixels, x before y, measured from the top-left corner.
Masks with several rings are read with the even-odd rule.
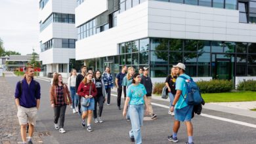
[[[43,24],[40,23],[40,31],[43,31],[43,29],[53,22],[75,24],[75,14],[62,14],[54,12],[45,20],[45,22],[43,22]]]

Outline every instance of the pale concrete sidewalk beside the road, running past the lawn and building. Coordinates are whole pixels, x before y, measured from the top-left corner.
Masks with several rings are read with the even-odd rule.
[[[39,79],[47,79],[51,81],[48,77],[38,77]],[[68,79],[63,78],[63,82],[67,83]],[[117,92],[116,88],[113,88],[113,92]],[[162,99],[161,96],[152,95],[152,99],[160,101],[169,101],[168,99]],[[256,108],[256,101],[245,101],[245,102],[229,102],[229,103],[205,103],[203,109],[210,109],[213,111],[221,111],[224,113],[231,113],[234,115],[241,115],[245,117],[256,118],[256,111],[250,111],[249,109]]]

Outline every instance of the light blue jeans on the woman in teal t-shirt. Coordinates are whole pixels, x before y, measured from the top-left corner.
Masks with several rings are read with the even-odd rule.
[[[143,124],[144,105],[129,105],[129,116],[131,118],[131,131],[130,137],[135,138],[135,143],[142,143],[140,127]]]

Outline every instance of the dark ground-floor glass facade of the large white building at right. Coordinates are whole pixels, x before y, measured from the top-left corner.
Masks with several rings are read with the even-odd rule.
[[[106,65],[115,71],[123,65],[150,67],[150,77],[166,77],[172,65],[182,62],[192,77],[231,80],[256,76],[256,43],[146,38],[120,43],[118,56],[96,60],[93,67],[100,70]]]

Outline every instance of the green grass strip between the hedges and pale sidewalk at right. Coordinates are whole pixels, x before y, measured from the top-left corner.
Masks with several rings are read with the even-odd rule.
[[[202,94],[202,97],[206,103],[256,101],[256,92],[225,92],[225,93]]]

